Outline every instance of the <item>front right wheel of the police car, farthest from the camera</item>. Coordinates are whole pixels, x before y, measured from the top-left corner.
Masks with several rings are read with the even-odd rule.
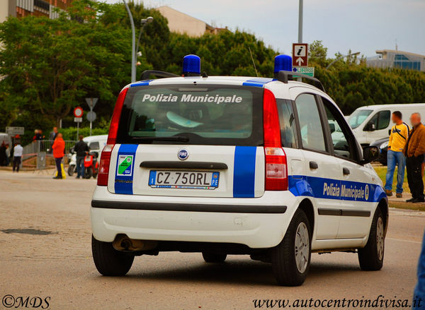
[[[358,249],[358,263],[361,270],[380,270],[384,263],[385,225],[382,211],[377,208],[373,216],[368,243]]]

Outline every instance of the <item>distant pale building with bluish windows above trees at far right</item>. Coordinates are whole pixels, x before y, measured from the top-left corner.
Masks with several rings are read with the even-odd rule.
[[[393,49],[377,50],[377,56],[366,59],[366,64],[374,68],[402,68],[425,71],[425,55],[402,52]]]

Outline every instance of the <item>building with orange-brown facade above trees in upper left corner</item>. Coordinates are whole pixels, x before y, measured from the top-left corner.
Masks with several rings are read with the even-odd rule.
[[[57,9],[66,10],[72,0],[0,0],[0,23],[8,16],[57,18]]]

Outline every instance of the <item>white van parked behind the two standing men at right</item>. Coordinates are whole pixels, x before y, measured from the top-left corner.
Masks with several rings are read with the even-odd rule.
[[[390,136],[392,112],[399,111],[403,114],[403,121],[410,126],[409,117],[414,112],[419,112],[425,117],[425,103],[412,103],[403,105],[368,105],[359,107],[348,118],[348,124],[353,129],[357,141],[361,145],[369,145],[380,138]]]

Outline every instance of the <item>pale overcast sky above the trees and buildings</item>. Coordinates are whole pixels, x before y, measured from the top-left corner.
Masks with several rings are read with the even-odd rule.
[[[297,42],[298,0],[142,2],[171,6],[217,27],[252,32],[279,52],[290,53]],[[425,0],[304,0],[303,41],[322,40],[328,56],[348,49],[374,56],[376,49],[395,49],[396,40],[399,50],[425,54],[424,14]]]

